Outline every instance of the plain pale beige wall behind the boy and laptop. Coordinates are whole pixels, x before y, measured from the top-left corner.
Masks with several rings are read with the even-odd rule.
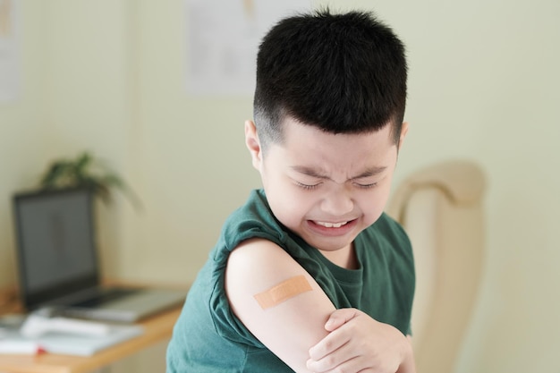
[[[560,2],[329,3],[376,9],[408,45],[396,182],[449,157],[488,171],[483,286],[456,372],[558,371]],[[140,194],[142,212],[118,199],[99,218],[107,273],[142,281],[191,282],[259,186],[242,143],[251,97],[185,90],[184,9],[21,0],[22,93],[0,104],[0,285],[16,281],[10,196],[52,157],[90,149]]]

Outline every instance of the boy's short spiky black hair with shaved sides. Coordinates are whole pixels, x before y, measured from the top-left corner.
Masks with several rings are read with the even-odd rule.
[[[330,133],[366,133],[406,105],[403,43],[373,13],[296,14],[276,23],[257,55],[254,119],[261,147],[283,140],[286,116]]]

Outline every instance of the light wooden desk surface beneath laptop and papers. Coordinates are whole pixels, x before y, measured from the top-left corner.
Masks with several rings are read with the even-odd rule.
[[[140,322],[144,334],[115,344],[93,356],[69,356],[42,353],[29,355],[0,355],[0,372],[9,373],[86,373],[122,360],[136,352],[171,337],[181,307],[159,313]]]

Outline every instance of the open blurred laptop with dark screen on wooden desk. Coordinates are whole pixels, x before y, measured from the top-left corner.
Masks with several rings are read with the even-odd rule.
[[[13,196],[20,295],[29,310],[134,323],[176,307],[186,290],[101,284],[94,194],[86,188]]]

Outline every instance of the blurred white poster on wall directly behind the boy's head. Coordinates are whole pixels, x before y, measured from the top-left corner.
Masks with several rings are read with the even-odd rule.
[[[309,11],[310,0],[186,0],[187,90],[252,95],[260,39],[276,21]]]

